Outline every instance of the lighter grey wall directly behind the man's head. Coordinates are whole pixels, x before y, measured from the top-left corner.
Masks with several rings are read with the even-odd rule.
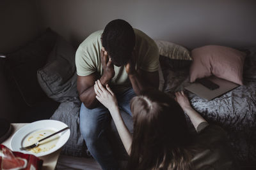
[[[256,45],[256,1],[38,0],[45,27],[74,45],[115,18],[154,39],[195,48]]]

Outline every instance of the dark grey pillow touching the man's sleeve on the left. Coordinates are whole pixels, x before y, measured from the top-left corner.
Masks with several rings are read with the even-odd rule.
[[[37,71],[40,86],[54,101],[62,103],[79,100],[75,54],[74,47],[59,36],[47,64]]]

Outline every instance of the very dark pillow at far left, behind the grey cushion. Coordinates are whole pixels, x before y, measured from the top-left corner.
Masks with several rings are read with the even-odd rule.
[[[28,45],[6,55],[4,74],[13,90],[10,95],[15,103],[33,106],[47,97],[38,84],[36,71],[44,66],[55,40],[56,33],[48,29]]]

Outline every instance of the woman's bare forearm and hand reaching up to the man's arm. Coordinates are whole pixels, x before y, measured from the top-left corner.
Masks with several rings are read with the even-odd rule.
[[[124,144],[125,150],[130,155],[132,136],[124,124],[123,118],[121,117],[115,94],[109,88],[109,85],[106,85],[105,88],[99,80],[95,81],[94,90],[97,95],[96,99],[98,99],[98,101],[102,103],[106,108],[108,108],[111,117],[115,122],[118,134],[122,140],[122,143]]]

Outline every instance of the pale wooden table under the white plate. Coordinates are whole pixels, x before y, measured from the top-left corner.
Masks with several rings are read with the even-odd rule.
[[[6,139],[6,141],[4,141],[1,144],[10,148],[10,141],[11,141],[11,138],[12,138],[13,134],[15,134],[15,132],[18,131],[24,125],[26,125],[26,124],[12,124],[12,134],[10,135],[10,137],[8,139]],[[56,152],[54,152],[54,153],[51,153],[49,155],[45,155],[44,157],[39,157],[40,159],[44,160],[42,170],[53,170],[53,169],[55,169],[58,157],[60,156],[60,151],[61,151],[61,148],[59,150],[56,150]]]

